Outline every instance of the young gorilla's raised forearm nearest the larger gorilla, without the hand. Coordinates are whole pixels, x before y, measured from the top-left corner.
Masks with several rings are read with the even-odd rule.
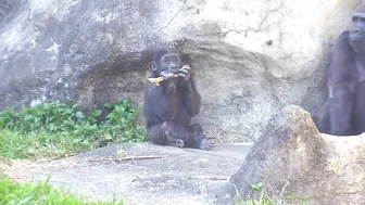
[[[194,117],[199,114],[201,97],[191,79],[184,89],[184,104],[190,117]]]

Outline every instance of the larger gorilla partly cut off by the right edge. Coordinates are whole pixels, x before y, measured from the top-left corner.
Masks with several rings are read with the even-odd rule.
[[[365,4],[352,15],[351,30],[333,47],[328,76],[329,99],[312,117],[323,133],[355,136],[365,131]]]

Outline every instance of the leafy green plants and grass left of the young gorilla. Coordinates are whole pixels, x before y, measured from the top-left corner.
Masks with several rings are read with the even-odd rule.
[[[12,158],[62,157],[111,143],[146,141],[136,125],[139,111],[129,100],[104,105],[111,112],[81,112],[60,102],[0,112],[0,156]]]

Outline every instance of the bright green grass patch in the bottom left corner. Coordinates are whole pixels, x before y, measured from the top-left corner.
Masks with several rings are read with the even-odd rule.
[[[53,188],[48,180],[42,183],[15,183],[8,177],[0,176],[0,204],[1,205],[123,205],[116,202],[87,202],[81,196],[72,194],[64,189]]]

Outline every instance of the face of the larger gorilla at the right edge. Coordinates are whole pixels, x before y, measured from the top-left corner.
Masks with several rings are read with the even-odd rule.
[[[349,41],[355,52],[365,52],[365,13],[354,13]]]

